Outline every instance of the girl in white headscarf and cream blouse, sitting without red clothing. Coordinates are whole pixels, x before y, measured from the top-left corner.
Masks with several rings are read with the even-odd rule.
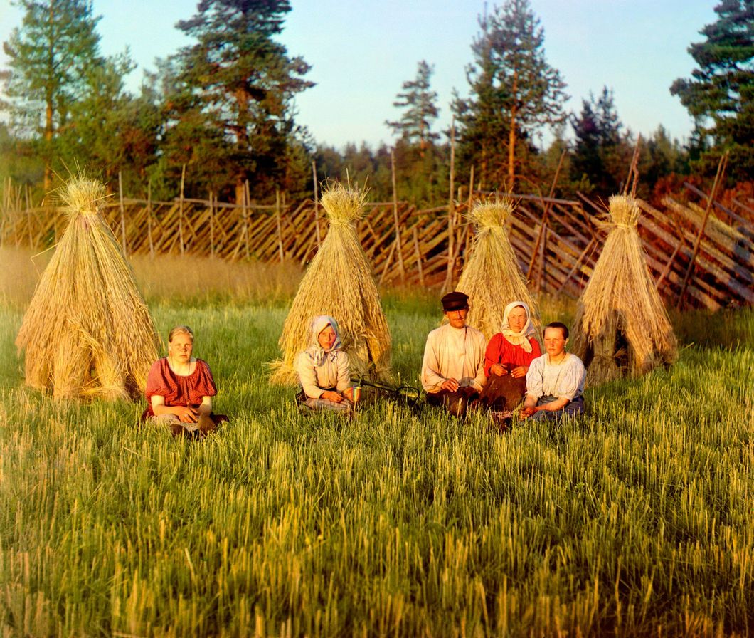
[[[348,355],[342,350],[338,322],[320,315],[311,321],[311,346],[296,357],[301,402],[312,409],[350,411]]]

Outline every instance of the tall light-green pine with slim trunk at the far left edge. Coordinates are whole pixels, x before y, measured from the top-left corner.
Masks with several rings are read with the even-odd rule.
[[[40,136],[44,189],[50,189],[55,143],[69,124],[72,106],[100,66],[96,28],[89,0],[20,0],[26,11],[20,27],[4,43],[9,58],[5,104],[14,130]]]

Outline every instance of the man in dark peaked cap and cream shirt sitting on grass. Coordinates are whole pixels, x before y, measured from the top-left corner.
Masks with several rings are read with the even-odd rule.
[[[428,334],[421,364],[421,385],[428,402],[445,405],[457,417],[465,415],[468,402],[479,395],[486,380],[487,340],[476,328],[466,325],[468,299],[458,291],[443,297],[448,323]]]

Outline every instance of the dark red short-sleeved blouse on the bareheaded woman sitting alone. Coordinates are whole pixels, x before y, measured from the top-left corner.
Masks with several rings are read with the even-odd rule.
[[[152,395],[155,394],[164,396],[165,405],[191,405],[197,408],[201,405],[203,396],[217,394],[217,387],[212,378],[210,366],[204,359],[197,359],[192,374],[182,377],[170,369],[167,357],[163,357],[152,364],[146,379],[146,402],[149,416],[154,416]]]

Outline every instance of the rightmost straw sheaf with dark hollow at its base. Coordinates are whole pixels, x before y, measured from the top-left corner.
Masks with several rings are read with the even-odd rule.
[[[678,357],[673,328],[647,269],[636,224],[639,206],[627,196],[610,198],[610,229],[602,254],[581,294],[572,350],[596,385],[644,374]]]

